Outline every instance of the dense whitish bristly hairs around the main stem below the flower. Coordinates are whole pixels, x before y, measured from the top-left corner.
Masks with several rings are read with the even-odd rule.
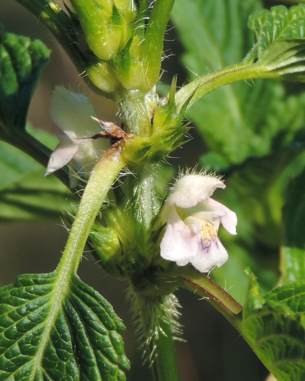
[[[173,338],[184,341],[182,325],[179,322],[181,305],[174,294],[148,296],[135,290],[130,283],[127,288],[127,299],[130,302],[133,324],[140,349],[143,349],[143,364],[149,362],[152,366],[157,356],[157,341],[160,335],[165,335],[161,322],[170,324]]]

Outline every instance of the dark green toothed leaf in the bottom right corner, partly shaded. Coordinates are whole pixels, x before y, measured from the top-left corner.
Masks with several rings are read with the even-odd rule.
[[[249,272],[242,333],[278,381],[305,377],[305,281],[274,288],[260,296]]]

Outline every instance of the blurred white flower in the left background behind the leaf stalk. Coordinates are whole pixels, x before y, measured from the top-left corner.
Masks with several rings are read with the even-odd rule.
[[[100,125],[90,118],[95,112],[89,99],[63,86],[56,86],[50,114],[64,134],[58,136],[59,143],[50,156],[45,175],[66,165],[72,158],[77,171],[90,172],[96,159],[109,147],[109,142],[82,139],[101,132]]]

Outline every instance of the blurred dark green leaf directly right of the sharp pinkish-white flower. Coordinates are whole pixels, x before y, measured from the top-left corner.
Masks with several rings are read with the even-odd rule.
[[[258,241],[278,247],[286,187],[304,168],[304,144],[296,142],[265,157],[249,158],[225,177],[227,189],[220,199],[236,211],[238,235],[248,245]]]

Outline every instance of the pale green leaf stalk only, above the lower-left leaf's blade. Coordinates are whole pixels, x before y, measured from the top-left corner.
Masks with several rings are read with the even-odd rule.
[[[67,281],[71,279],[72,273],[77,271],[96,215],[109,188],[124,165],[125,162],[116,147],[104,152],[92,170],[72,224],[63,256],[58,264],[58,271],[65,273]]]

